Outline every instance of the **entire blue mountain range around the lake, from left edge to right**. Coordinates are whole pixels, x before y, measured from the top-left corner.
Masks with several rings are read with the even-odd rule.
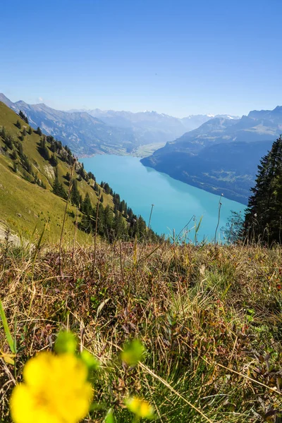
[[[80,157],[136,154],[140,147],[151,146],[143,149],[153,152],[142,159],[145,166],[244,204],[255,183],[259,159],[282,133],[282,106],[250,111],[241,118],[175,118],[156,111],[59,111],[45,104],[14,103],[4,94],[0,101],[17,113],[23,111],[32,126],[39,126]]]

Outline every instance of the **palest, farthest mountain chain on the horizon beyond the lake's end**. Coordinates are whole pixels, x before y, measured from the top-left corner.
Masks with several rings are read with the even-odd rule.
[[[82,110],[71,110],[82,111]],[[159,114],[157,111],[142,111],[132,113],[130,111],[114,110],[83,110],[90,116],[102,119],[105,123],[118,128],[130,128],[140,144],[159,144],[176,139],[188,130],[198,128],[202,123],[209,121],[213,115],[191,115],[186,118],[175,118],[167,114]],[[238,116],[223,115],[226,118],[238,118]]]

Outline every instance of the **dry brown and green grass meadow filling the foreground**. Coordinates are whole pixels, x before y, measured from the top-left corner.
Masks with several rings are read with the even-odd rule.
[[[1,361],[0,410],[24,362],[52,348],[61,328],[102,363],[93,376],[95,400],[85,422],[103,422],[137,393],[160,422],[279,422],[282,388],[281,247],[97,245],[62,255],[5,247],[1,300],[16,337],[16,366]],[[145,361],[126,368],[118,353],[141,338]],[[4,331],[0,350],[9,353]]]

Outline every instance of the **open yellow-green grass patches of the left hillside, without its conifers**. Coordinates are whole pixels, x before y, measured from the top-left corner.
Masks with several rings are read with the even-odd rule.
[[[20,121],[21,128],[16,126],[17,121]],[[14,140],[13,149],[17,152],[18,142],[20,137],[23,137],[23,130],[28,131],[29,125],[23,121],[15,112],[9,109],[4,103],[0,102],[0,128],[4,127],[6,133],[11,135]],[[3,138],[0,136],[0,216],[1,222],[6,223],[12,231],[16,231],[25,238],[30,238],[35,227],[40,233],[44,227],[44,222],[49,221],[47,226],[47,237],[49,240],[56,241],[59,239],[61,231],[61,221],[63,219],[63,212],[66,207],[65,200],[54,195],[52,185],[54,183],[54,167],[51,166],[48,160],[42,157],[39,152],[40,137],[35,130],[32,130],[30,135],[28,132],[23,137],[23,154],[25,154],[32,165],[32,172],[37,175],[39,180],[46,186],[46,190],[39,187],[35,183],[30,183],[25,178],[31,178],[27,174],[19,159],[13,159],[13,149],[5,145]],[[50,145],[47,142],[47,148]],[[52,154],[51,152],[49,153]],[[62,161],[60,155],[54,153],[58,159],[58,177],[59,182],[63,184],[64,188],[68,190],[68,181],[66,173],[71,173],[71,166],[66,161]],[[13,163],[18,163],[18,171],[13,171]],[[74,172],[74,177],[78,180],[78,173]],[[85,194],[90,195],[92,206],[97,204],[97,194],[94,192],[94,180],[78,180],[78,190],[82,197]],[[104,206],[109,204],[113,207],[111,195],[103,192]],[[69,212],[75,213],[75,207],[70,206]],[[68,215],[66,221],[66,237],[73,238],[75,218]],[[78,231],[78,241],[87,241],[90,239],[88,235],[82,231]]]

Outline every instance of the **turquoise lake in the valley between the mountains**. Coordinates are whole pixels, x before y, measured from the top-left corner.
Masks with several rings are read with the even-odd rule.
[[[175,180],[165,173],[143,166],[140,158],[116,156],[111,154],[96,155],[81,159],[85,170],[92,171],[97,183],[102,180],[125,200],[137,215],[149,222],[151,206],[151,228],[159,234],[176,235],[188,224],[186,236],[194,240],[195,223],[202,223],[197,239],[214,239],[219,216],[219,195],[214,195],[199,188]],[[231,210],[244,212],[245,205],[222,198],[218,240],[223,240],[220,229],[226,225]],[[195,216],[195,220],[193,220]],[[186,232],[188,231],[188,232]]]

